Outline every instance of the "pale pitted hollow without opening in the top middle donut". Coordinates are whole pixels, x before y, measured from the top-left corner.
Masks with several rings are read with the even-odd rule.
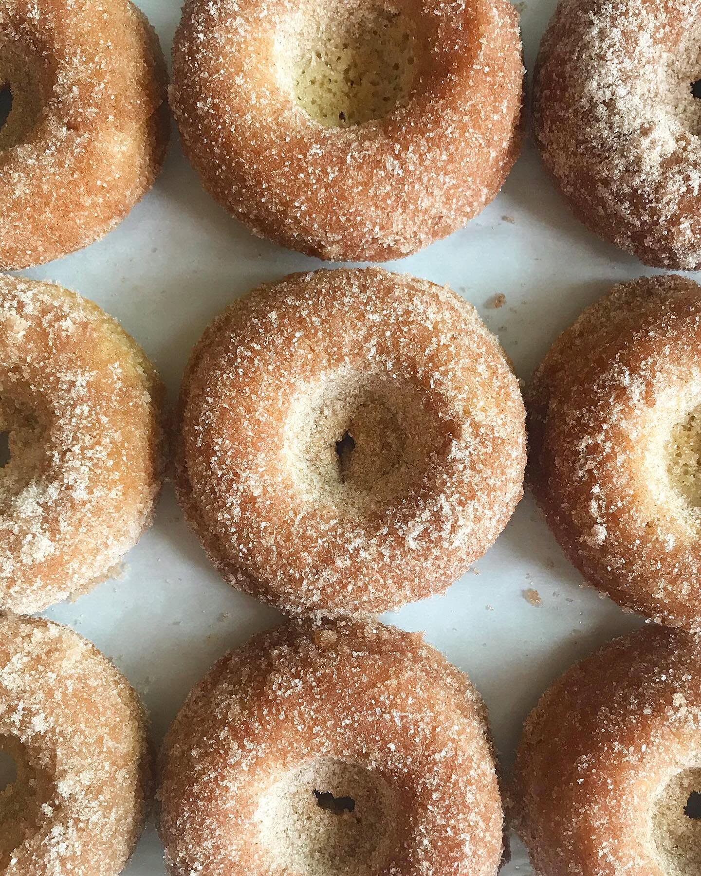
[[[385,117],[409,100],[416,74],[414,22],[375,2],[302,4],[280,29],[280,84],[308,117],[345,128]]]

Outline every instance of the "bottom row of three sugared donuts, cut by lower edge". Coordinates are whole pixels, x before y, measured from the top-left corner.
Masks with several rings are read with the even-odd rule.
[[[509,792],[538,876],[697,873],[699,715],[687,632],[648,627],[558,679]],[[0,872],[117,876],[152,798],[146,731],[89,642],[0,617]],[[157,772],[172,876],[496,876],[507,856],[478,693],[420,635],[377,622],[290,623],[226,654]]]

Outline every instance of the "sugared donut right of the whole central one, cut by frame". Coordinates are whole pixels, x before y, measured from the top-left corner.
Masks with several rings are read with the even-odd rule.
[[[530,480],[563,549],[620,604],[701,631],[701,286],[615,286],[528,397]]]

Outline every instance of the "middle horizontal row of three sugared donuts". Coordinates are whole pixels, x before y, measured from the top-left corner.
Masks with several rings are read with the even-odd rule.
[[[0,611],[113,574],[166,468],[163,390],[115,320],[0,276]],[[701,289],[615,286],[528,384],[528,481],[584,578],[701,632]],[[190,357],[174,475],[222,576],[290,614],[379,613],[485,554],[526,466],[518,381],[475,309],[379,268],[294,274]],[[0,448],[2,449],[2,448]]]

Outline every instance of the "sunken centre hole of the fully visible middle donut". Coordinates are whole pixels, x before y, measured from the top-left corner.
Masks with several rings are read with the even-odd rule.
[[[359,517],[424,483],[451,438],[450,423],[408,381],[348,372],[294,399],[287,471],[302,502]]]

